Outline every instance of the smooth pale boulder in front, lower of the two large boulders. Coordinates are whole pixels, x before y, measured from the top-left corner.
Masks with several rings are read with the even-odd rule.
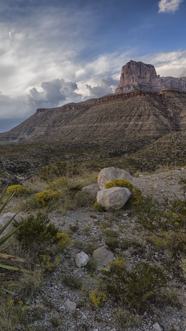
[[[106,211],[122,208],[131,193],[125,187],[112,187],[101,190],[97,194],[97,202],[102,204]]]

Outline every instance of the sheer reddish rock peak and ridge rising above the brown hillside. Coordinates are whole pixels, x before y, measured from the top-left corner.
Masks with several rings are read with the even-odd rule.
[[[115,92],[160,91],[169,87],[186,91],[186,77],[160,77],[153,65],[131,60],[122,67],[119,85]]]

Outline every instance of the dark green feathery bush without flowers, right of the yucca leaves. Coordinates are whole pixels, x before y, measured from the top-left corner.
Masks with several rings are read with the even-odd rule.
[[[14,226],[21,228],[17,232],[19,241],[25,241],[26,245],[36,244],[40,251],[47,247],[60,242],[61,237],[58,234],[58,228],[53,223],[50,223],[50,218],[47,214],[38,212],[36,217],[29,215],[26,219],[20,221],[14,220]]]

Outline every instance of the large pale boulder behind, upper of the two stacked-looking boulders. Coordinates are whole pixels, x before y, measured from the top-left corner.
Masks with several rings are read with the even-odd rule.
[[[98,174],[98,186],[100,190],[104,190],[105,184],[115,179],[125,179],[132,183],[132,176],[128,171],[115,167],[104,168]]]

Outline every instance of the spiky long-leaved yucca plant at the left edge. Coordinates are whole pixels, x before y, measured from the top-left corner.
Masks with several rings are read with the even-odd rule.
[[[2,213],[2,211],[5,209],[5,207],[8,205],[8,203],[10,202],[10,200],[13,198],[13,196],[15,195],[16,191],[12,192],[8,197],[6,196],[6,189],[3,191],[3,193],[0,196],[0,213]],[[7,226],[13,221],[13,219],[15,218],[17,214],[15,214],[0,230],[0,236],[3,234],[3,232],[5,231],[5,229],[7,228]],[[24,262],[24,263],[29,263],[29,264],[33,264],[36,265],[34,263],[28,262],[22,258],[16,257],[16,256],[12,256],[12,255],[8,255],[8,254],[4,254],[2,253],[4,250],[6,250],[9,246],[3,247],[1,248],[1,246],[19,229],[20,227],[16,228],[15,230],[11,231],[10,233],[6,234],[5,236],[0,238],[0,259],[6,259],[6,260],[15,260],[18,262]],[[23,270],[11,265],[7,265],[7,264],[0,264],[0,268],[3,269],[8,269],[8,270],[12,270],[12,271],[27,271],[27,270]],[[29,272],[29,271],[27,271]],[[2,283],[2,279],[5,280],[5,283]],[[0,286],[2,284],[7,284],[7,280],[12,280],[15,279],[15,277],[9,276],[6,273],[0,273]],[[7,292],[9,292],[7,290]]]

